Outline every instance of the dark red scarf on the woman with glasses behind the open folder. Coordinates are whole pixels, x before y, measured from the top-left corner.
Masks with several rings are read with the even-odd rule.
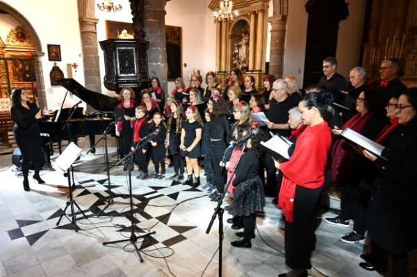
[[[373,112],[366,112],[365,115],[357,113],[343,125],[342,129],[350,128],[357,133],[361,133],[366,122],[371,117],[373,117]],[[330,169],[333,182],[336,182],[338,176],[349,174],[350,169],[357,160],[357,155],[358,153],[342,137],[339,137],[334,142],[332,167]]]

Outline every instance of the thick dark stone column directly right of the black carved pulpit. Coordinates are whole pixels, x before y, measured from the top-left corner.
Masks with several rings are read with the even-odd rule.
[[[165,5],[166,0],[144,0],[143,29],[145,40],[149,41],[149,76],[156,76],[167,95],[167,49],[165,42]]]

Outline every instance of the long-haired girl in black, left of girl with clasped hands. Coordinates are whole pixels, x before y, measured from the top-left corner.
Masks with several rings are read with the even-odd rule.
[[[167,119],[167,147],[168,153],[172,155],[172,162],[174,162],[175,174],[170,178],[177,178],[177,181],[184,178],[184,160],[179,154],[179,144],[181,144],[181,126],[185,117],[182,103],[172,101],[171,115]]]

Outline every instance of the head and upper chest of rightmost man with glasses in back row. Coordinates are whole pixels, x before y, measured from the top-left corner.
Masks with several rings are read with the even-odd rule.
[[[400,60],[397,58],[387,58],[382,60],[381,67],[379,68],[379,77],[381,82],[379,83],[378,92],[382,94],[382,101],[387,103],[391,96],[400,94],[407,87],[401,83],[398,78],[402,73]]]

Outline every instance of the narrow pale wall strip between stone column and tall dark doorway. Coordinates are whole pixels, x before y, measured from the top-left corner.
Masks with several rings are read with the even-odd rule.
[[[308,13],[305,0],[288,1],[288,18],[284,53],[284,76],[295,76],[299,87],[304,78]]]

